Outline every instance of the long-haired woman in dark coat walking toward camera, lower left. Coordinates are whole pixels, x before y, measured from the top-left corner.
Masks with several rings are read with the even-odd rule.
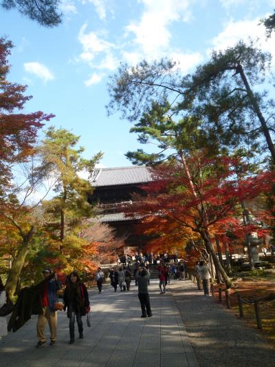
[[[89,308],[89,296],[85,284],[80,282],[76,271],[69,275],[69,282],[64,292],[64,311],[67,308],[69,317],[69,344],[74,343],[74,322],[78,324],[79,339],[83,339],[83,322],[81,317],[85,315],[85,310]]]

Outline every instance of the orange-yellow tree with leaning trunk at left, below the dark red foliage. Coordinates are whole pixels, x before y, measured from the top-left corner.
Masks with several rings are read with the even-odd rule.
[[[22,165],[17,165],[17,180],[12,184],[13,191],[0,202],[1,225],[4,229],[1,251],[7,250],[5,255],[9,254],[12,258],[5,283],[5,289],[10,295],[14,294],[25,260],[32,247],[35,247],[34,238],[43,222],[41,202],[55,183],[40,168],[40,161],[34,159],[34,156],[30,156]],[[9,241],[12,247],[7,249]]]

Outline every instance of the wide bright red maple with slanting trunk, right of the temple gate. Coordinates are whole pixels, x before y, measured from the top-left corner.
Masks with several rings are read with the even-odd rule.
[[[199,234],[228,287],[230,279],[218,261],[212,240],[232,227],[240,228],[239,202],[270,189],[275,179],[272,172],[264,172],[246,178],[240,186],[234,164],[232,158],[225,156],[210,159],[197,154],[188,159],[189,177],[182,166],[155,167],[162,179],[142,187],[146,196],[142,200],[136,196],[136,203],[129,208],[129,215],[138,213],[143,222],[160,221],[164,227],[166,223],[172,227],[177,223]]]

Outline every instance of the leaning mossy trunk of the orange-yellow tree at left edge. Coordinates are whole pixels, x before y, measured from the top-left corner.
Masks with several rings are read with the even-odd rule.
[[[14,292],[17,289],[17,281],[21,275],[25,258],[30,251],[30,241],[32,240],[33,233],[34,227],[32,227],[28,234],[24,236],[21,249],[12,262],[12,267],[10,269],[7,282],[5,283],[5,290],[8,292],[10,297],[14,295]]]

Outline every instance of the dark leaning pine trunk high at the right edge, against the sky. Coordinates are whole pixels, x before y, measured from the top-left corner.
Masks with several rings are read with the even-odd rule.
[[[245,90],[248,93],[248,98],[250,98],[250,102],[253,106],[254,112],[256,113],[256,115],[259,118],[259,121],[261,123],[261,127],[263,129],[263,134],[265,135],[265,140],[267,142],[267,147],[268,149],[270,149],[270,153],[272,156],[272,160],[275,163],[275,148],[274,148],[274,144],[272,142],[272,138],[270,136],[270,131],[267,127],[267,123],[265,121],[265,118],[263,117],[263,114],[261,112],[261,109],[259,107],[258,102],[256,101],[256,98],[250,88],[250,85],[248,83],[248,79],[245,76],[245,72],[243,71],[243,67],[241,66],[241,64],[239,64],[236,67],[237,72],[239,72],[239,74],[241,75],[241,79],[243,81],[243,84],[245,85]]]

